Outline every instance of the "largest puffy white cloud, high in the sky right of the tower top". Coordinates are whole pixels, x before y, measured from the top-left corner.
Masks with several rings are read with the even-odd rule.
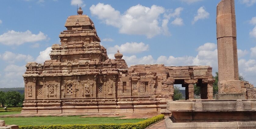
[[[111,5],[98,3],[92,5],[90,11],[107,25],[119,28],[123,34],[145,35],[152,38],[160,33],[169,35],[167,24],[171,17],[178,17],[183,8],[177,8],[173,13],[166,14],[166,9],[152,5],[150,8],[143,5],[135,5],[127,9],[123,14],[115,10]],[[162,15],[164,17],[162,17]],[[162,25],[159,25],[162,21]],[[167,19],[167,20],[166,20]],[[164,29],[164,30],[163,30]]]

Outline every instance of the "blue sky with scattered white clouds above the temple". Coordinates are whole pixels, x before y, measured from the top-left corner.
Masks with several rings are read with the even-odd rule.
[[[50,59],[52,44],[76,5],[94,22],[108,57],[128,66],[209,65],[218,71],[220,0],[1,0],[0,88],[24,87],[27,62]],[[256,0],[235,0],[239,74],[256,86]]]

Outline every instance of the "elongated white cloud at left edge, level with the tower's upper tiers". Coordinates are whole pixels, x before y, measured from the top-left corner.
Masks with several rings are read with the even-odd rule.
[[[38,34],[32,34],[29,30],[25,32],[8,31],[0,35],[0,43],[4,45],[21,45],[25,42],[37,42],[47,38],[41,31]]]

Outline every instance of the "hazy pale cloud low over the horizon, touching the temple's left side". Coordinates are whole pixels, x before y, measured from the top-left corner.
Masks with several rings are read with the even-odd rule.
[[[10,88],[10,87],[24,87],[22,75],[26,71],[26,67],[17,66],[14,64],[8,65],[3,70],[4,74],[0,78],[0,88]]]

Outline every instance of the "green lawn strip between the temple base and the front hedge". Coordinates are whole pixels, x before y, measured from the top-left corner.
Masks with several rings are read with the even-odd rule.
[[[81,116],[61,116],[61,117],[7,117],[0,118],[5,124],[16,125],[53,125],[53,124],[120,124],[137,123],[144,119],[119,119],[120,117],[84,117]]]

